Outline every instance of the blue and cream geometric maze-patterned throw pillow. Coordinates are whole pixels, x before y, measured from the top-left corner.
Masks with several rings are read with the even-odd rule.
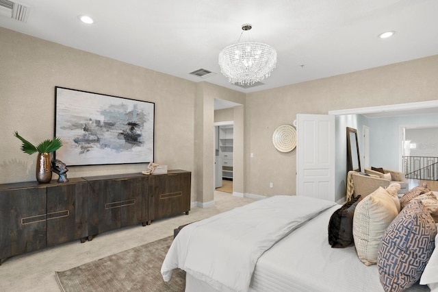
[[[404,291],[422,276],[435,249],[437,226],[422,202],[409,203],[388,226],[377,269],[385,291]]]

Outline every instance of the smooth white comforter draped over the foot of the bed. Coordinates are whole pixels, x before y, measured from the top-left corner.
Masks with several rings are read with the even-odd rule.
[[[334,202],[275,196],[185,226],[173,241],[162,275],[179,267],[219,291],[248,291],[263,252]]]

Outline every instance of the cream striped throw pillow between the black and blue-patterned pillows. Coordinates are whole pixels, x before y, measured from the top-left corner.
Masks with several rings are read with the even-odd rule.
[[[357,204],[353,217],[353,239],[357,256],[362,263],[365,265],[376,263],[378,246],[383,234],[397,215],[394,199],[382,187]]]

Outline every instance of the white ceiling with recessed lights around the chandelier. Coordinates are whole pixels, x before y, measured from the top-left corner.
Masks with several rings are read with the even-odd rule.
[[[243,93],[438,54],[437,0],[19,0],[27,21],[0,26],[194,82]],[[86,25],[78,16],[92,16]],[[242,39],[266,42],[278,60],[263,85],[220,73],[218,53]],[[394,30],[391,38],[378,34]],[[197,69],[216,74],[205,79]]]

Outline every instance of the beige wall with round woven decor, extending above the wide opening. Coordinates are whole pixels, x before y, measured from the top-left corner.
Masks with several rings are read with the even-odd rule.
[[[296,114],[438,99],[437,76],[438,56],[431,56],[248,94],[245,192],[296,193],[296,150],[283,154],[272,145],[276,127],[292,125]]]

